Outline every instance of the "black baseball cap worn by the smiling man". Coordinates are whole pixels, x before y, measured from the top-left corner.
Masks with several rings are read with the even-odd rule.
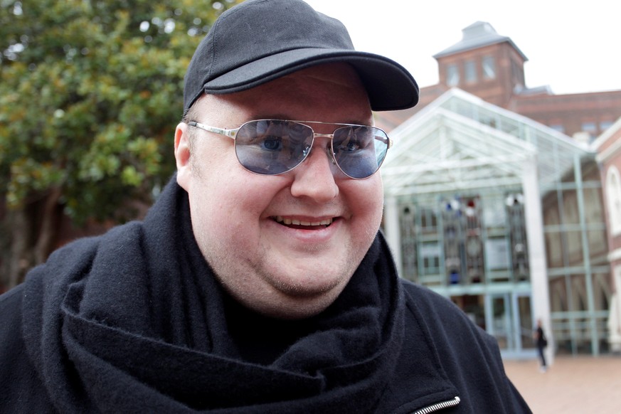
[[[375,30],[372,20],[368,26]],[[247,0],[218,17],[196,48],[184,80],[184,110],[203,93],[240,92],[337,62],[354,67],[372,110],[418,103],[418,85],[408,70],[382,55],[356,51],[340,21],[302,0]]]

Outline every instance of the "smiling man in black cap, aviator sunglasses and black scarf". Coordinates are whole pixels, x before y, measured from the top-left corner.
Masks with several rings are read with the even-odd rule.
[[[144,222],[0,299],[0,410],[529,412],[494,339],[399,280],[378,233],[391,142],[371,110],[417,101],[403,67],[303,1],[225,12]]]

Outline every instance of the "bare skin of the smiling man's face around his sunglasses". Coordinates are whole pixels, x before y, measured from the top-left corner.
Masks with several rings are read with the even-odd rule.
[[[192,121],[227,129],[268,118],[372,122],[366,91],[344,64],[301,70],[244,92],[206,95],[196,105],[198,119]],[[337,127],[310,125],[323,134]],[[240,165],[233,139],[184,123],[176,129],[177,180],[189,193],[198,246],[225,289],[255,311],[287,319],[321,312],[344,289],[376,235],[380,175],[350,179],[332,164],[327,145],[328,138],[317,137],[302,164],[263,176]]]

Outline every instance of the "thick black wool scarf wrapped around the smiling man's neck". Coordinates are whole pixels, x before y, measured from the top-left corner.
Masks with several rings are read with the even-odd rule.
[[[400,289],[378,234],[322,314],[253,314],[213,277],[173,178],[144,222],[31,272],[23,335],[62,413],[372,412],[402,346]]]

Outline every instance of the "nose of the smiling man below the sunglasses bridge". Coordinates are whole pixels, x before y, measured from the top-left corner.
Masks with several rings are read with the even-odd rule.
[[[307,159],[291,172],[294,197],[308,197],[319,203],[331,201],[339,195],[339,186],[334,179],[338,167],[334,165],[326,142],[315,142]]]

